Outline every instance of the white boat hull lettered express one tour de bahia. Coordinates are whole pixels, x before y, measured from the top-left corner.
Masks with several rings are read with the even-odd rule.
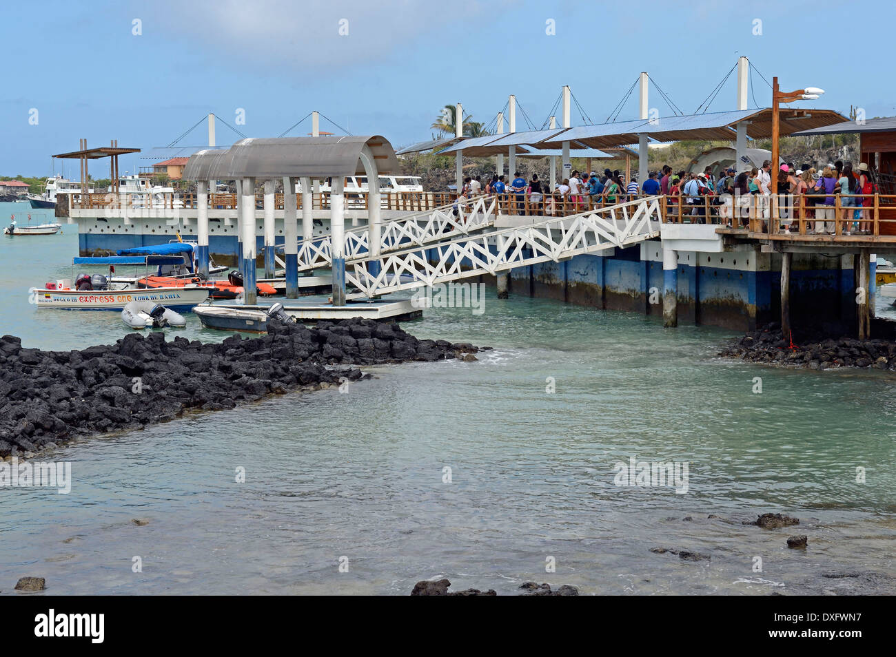
[[[154,290],[45,290],[30,289],[30,303],[39,308],[65,311],[121,311],[134,301],[159,303],[168,310],[189,312],[206,301],[209,291],[204,287],[167,287]]]

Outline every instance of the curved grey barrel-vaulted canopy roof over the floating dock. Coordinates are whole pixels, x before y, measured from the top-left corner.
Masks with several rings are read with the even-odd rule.
[[[218,153],[200,151],[187,162],[188,180],[237,178],[312,178],[364,175],[361,151],[368,146],[380,174],[398,171],[392,144],[380,135],[344,137],[272,137],[237,141]]]

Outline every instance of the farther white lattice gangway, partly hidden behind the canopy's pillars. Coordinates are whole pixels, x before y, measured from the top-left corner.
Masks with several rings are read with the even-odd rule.
[[[457,208],[457,215],[454,209]],[[478,196],[455,206],[417,212],[406,217],[383,221],[380,252],[391,252],[404,247],[420,246],[435,241],[451,239],[459,235],[469,235],[495,225],[497,197]],[[351,228],[345,232],[345,259],[358,260],[369,256],[367,248],[367,227]],[[282,247],[280,247],[282,248]],[[330,235],[298,243],[298,270],[307,271],[318,267],[329,267],[331,263]],[[278,256],[274,260],[280,267],[286,263]]]

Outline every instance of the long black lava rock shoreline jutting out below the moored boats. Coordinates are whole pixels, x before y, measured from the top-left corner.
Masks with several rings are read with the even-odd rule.
[[[484,347],[487,348],[487,347]],[[398,324],[268,322],[263,337],[202,343],[130,333],[115,345],[53,352],[0,337],[0,457],[30,457],[76,436],[140,429],[189,409],[217,411],[357,381],[358,365],[476,360],[479,348],[418,340]]]

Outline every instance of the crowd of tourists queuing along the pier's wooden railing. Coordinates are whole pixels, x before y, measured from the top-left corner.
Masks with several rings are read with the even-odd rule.
[[[797,218],[803,217],[812,220],[807,230],[810,235],[831,235],[837,226],[845,235],[868,235],[874,192],[866,163],[854,169],[851,162],[844,164],[840,160],[823,166],[821,171],[809,165],[797,168],[792,162],[781,164],[775,191],[771,190],[770,160],[765,160],[759,168],[740,173],[729,166],[719,175],[713,173],[711,166],[699,173],[676,173],[666,165],[659,171],[651,171],[640,185],[635,176],[626,183],[625,175],[608,168],[603,175],[573,170],[553,190],[538,175],[526,180],[517,171],[511,181],[495,174],[485,184],[478,175],[468,176],[463,181],[455,211],[471,197],[483,193],[500,195],[512,212],[546,216],[663,195],[668,197],[670,218],[682,217],[692,223],[718,222],[745,227],[753,218],[761,219],[762,230],[767,230],[771,211],[775,209],[785,233],[790,232]],[[773,194],[776,195],[774,202]]]

